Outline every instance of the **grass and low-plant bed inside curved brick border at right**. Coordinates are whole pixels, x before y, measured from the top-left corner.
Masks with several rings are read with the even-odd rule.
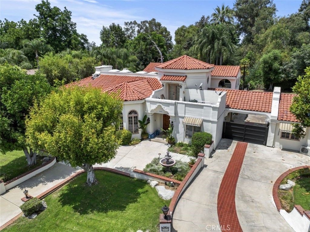
[[[310,169],[303,168],[287,175],[281,184],[287,180],[295,182],[291,190],[278,190],[281,206],[286,212],[291,212],[294,205],[301,205],[304,210],[310,210]]]

